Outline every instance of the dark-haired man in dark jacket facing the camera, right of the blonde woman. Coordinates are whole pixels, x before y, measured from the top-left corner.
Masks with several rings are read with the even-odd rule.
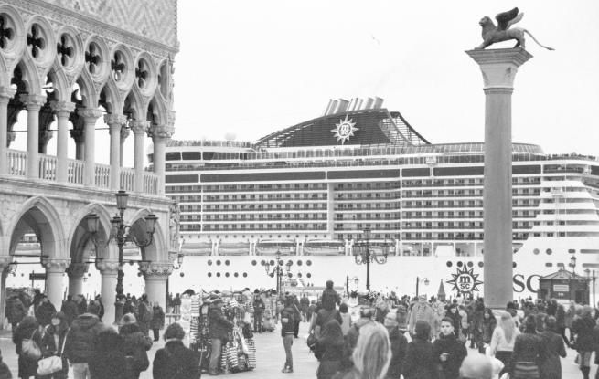
[[[444,317],[441,320],[441,333],[433,343],[433,356],[441,366],[444,379],[457,379],[460,376],[460,366],[468,352],[464,343],[455,336],[454,320]]]

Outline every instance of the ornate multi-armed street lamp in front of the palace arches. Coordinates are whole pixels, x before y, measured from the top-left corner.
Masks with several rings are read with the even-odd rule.
[[[155,232],[155,223],[158,220],[154,214],[150,214],[145,216],[145,237],[144,239],[138,239],[131,233],[131,227],[124,223],[123,215],[124,211],[127,209],[127,201],[129,200],[129,194],[124,191],[119,191],[116,195],[116,208],[119,210],[119,214],[112,217],[111,220],[111,233],[108,239],[108,243],[112,240],[116,242],[116,245],[119,247],[119,271],[116,277],[116,294],[117,298],[123,295],[123,247],[127,242],[133,242],[137,247],[147,247],[152,245],[154,232]],[[91,214],[87,216],[88,230],[92,236],[95,236],[98,233],[98,228],[100,226],[100,217],[96,214]]]

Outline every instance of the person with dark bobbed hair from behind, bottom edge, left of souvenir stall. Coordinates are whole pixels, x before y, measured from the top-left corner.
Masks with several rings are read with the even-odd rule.
[[[176,322],[168,325],[165,347],[158,349],[152,363],[154,379],[199,379],[199,355],[185,347],[183,337],[181,325]]]

